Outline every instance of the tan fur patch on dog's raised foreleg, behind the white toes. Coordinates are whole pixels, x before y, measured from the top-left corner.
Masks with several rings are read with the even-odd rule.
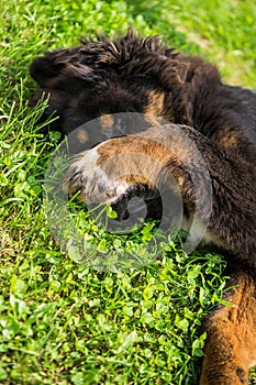
[[[144,134],[151,133],[151,130],[148,129]],[[157,133],[156,128],[154,131]],[[160,168],[163,170],[166,168],[182,190],[187,177],[179,157],[182,152],[182,143],[178,141],[174,148],[168,148],[157,142],[157,138],[154,140],[141,135],[129,135],[111,139],[100,145],[97,166],[100,166],[107,175],[114,177],[122,175],[122,179],[129,185],[147,184],[151,187],[157,184]],[[186,156],[189,157],[189,151],[186,152]],[[186,161],[185,157],[182,160]]]

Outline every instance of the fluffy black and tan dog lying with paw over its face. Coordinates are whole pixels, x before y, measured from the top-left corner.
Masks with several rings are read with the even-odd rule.
[[[33,103],[49,95],[41,119],[58,116],[51,129],[64,135],[96,118],[112,132],[115,114],[123,112],[141,113],[147,123],[142,132],[110,133],[81,152],[67,172],[70,195],[108,202],[124,220],[130,197],[147,200],[164,178],[146,161],[149,155],[174,176],[186,227],[197,205],[193,176],[202,180],[197,216],[207,231],[200,237],[226,260],[233,288],[225,300],[234,306],[218,306],[205,320],[200,385],[248,383],[256,364],[256,94],[224,85],[215,66],[133,30],[47,52],[30,73],[40,86]],[[202,162],[211,185],[210,216]],[[151,216],[157,217],[154,194]],[[200,226],[193,231],[202,232]]]

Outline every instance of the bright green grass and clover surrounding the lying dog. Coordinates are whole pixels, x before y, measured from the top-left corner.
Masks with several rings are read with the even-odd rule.
[[[42,138],[44,106],[27,107],[34,57],[129,25],[164,33],[219,64],[225,80],[255,87],[255,1],[149,3],[1,1],[0,384],[197,384],[200,326],[222,296],[223,261],[170,242],[147,266],[111,273],[62,252],[43,207],[58,135]]]

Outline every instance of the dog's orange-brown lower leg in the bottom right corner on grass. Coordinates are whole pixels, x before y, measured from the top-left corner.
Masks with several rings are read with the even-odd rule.
[[[200,385],[248,384],[248,370],[256,364],[255,272],[237,268],[231,274],[225,299],[207,320],[207,344]]]

